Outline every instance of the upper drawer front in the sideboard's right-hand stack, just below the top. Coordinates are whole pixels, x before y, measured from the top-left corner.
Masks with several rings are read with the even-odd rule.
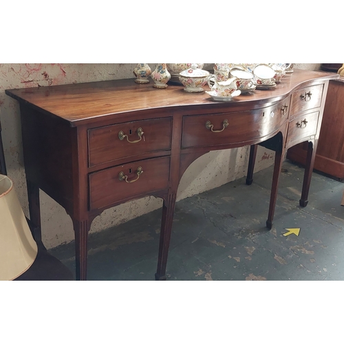
[[[297,116],[300,111],[314,109],[321,105],[323,96],[323,84],[304,87],[292,94],[290,105],[291,116]]]

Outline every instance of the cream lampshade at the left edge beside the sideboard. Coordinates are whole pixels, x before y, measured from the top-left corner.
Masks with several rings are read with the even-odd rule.
[[[10,281],[23,274],[37,252],[13,182],[0,174],[0,280]]]

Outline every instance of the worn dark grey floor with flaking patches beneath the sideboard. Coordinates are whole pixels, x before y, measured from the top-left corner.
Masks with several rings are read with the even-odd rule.
[[[343,182],[313,173],[299,206],[303,168],[283,164],[272,230],[266,229],[272,167],[175,206],[167,280],[344,280]],[[89,280],[154,280],[161,211],[89,235]],[[286,228],[300,234],[283,236]],[[73,272],[74,242],[50,253]]]

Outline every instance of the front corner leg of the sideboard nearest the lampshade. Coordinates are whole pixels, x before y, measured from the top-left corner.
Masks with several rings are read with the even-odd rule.
[[[91,222],[77,221],[73,219],[75,232],[75,260],[76,260],[76,280],[86,281],[87,279],[87,238]]]

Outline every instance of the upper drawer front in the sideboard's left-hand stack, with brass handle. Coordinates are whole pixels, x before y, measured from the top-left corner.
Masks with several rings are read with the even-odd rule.
[[[138,120],[89,129],[89,167],[171,149],[171,118]]]

